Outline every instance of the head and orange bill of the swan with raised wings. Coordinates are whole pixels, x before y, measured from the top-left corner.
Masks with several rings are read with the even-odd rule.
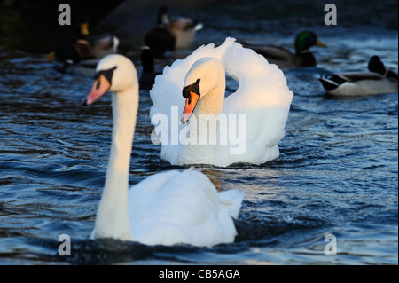
[[[182,91],[185,98],[183,114],[180,116],[182,124],[190,119],[200,99],[215,88],[222,75],[225,75],[224,68],[218,59],[205,57],[192,65],[185,75]]]

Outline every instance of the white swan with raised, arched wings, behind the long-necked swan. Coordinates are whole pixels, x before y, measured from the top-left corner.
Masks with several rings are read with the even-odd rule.
[[[225,73],[239,81],[227,98]],[[220,167],[278,158],[293,99],[283,72],[233,38],[165,67],[150,95],[161,158]]]

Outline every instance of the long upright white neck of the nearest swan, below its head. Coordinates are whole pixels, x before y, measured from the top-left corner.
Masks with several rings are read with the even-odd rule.
[[[137,85],[113,94],[113,139],[106,185],[98,206],[97,238],[133,240],[129,221],[129,163],[136,126]]]

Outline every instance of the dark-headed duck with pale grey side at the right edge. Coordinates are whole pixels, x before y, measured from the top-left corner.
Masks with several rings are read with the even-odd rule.
[[[398,90],[398,75],[385,68],[377,55],[368,64],[369,72],[329,74],[318,80],[332,95],[372,95]]]

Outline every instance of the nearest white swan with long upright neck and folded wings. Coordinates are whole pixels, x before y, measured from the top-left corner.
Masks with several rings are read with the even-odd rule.
[[[95,82],[83,106],[106,91],[113,94],[113,138],[106,185],[91,238],[134,240],[146,245],[213,246],[234,240],[233,219],[244,193],[217,193],[194,169],[166,171],[129,189],[129,162],[138,107],[137,71],[122,55],[98,63]]]

